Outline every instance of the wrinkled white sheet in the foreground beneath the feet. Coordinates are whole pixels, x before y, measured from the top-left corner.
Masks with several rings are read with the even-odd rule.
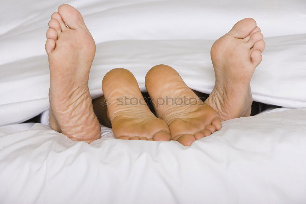
[[[190,147],[113,139],[107,128],[87,144],[36,123],[0,136],[0,200],[303,204],[305,116],[297,108],[228,120]]]

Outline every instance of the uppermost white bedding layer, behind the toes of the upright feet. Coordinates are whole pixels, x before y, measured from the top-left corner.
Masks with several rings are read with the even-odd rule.
[[[10,0],[0,7],[0,64],[44,55],[50,15],[67,1]],[[256,19],[265,37],[306,33],[304,0],[72,0],[96,43],[216,40],[233,23]]]

